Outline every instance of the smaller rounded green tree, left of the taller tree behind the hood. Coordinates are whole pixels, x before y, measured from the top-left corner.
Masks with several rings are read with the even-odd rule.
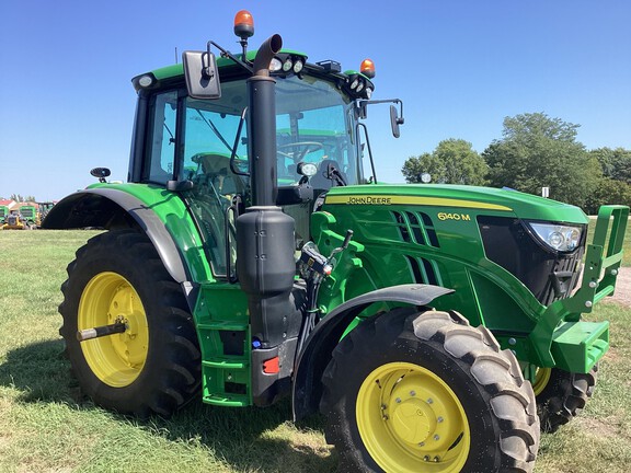
[[[420,183],[421,174],[428,173],[435,183],[484,185],[486,164],[469,141],[450,138],[432,153],[409,158],[401,172],[409,183]]]

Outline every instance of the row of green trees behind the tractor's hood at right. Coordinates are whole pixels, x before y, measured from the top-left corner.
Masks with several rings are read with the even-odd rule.
[[[544,113],[504,119],[502,138],[480,154],[469,141],[446,139],[433,152],[405,160],[401,172],[408,183],[509,187],[582,207],[594,214],[605,204],[631,206],[631,150],[587,150],[576,140],[580,125]]]

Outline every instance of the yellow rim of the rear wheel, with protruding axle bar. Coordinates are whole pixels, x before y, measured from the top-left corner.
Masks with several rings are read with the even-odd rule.
[[[81,342],[92,372],[105,384],[124,388],[142,371],[149,348],[149,327],[136,289],[116,273],[101,273],[85,286],[79,302],[78,330],[124,322],[122,334]]]

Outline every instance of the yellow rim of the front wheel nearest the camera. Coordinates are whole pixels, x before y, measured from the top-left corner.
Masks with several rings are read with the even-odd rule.
[[[357,394],[357,427],[388,472],[459,472],[471,446],[464,408],[432,371],[409,362],[380,366]]]

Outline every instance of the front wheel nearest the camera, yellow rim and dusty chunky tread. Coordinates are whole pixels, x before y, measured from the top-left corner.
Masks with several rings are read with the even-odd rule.
[[[395,309],[363,322],[322,382],[340,471],[532,471],[530,383],[512,353],[457,313]]]

